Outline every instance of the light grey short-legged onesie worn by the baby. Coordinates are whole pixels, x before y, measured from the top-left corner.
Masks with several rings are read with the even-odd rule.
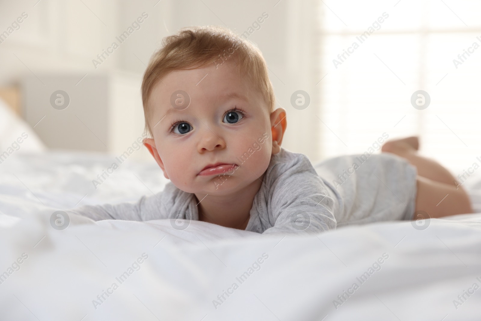
[[[304,154],[281,149],[272,155],[254,197],[246,231],[317,233],[335,229],[336,221],[346,225],[410,219],[416,196],[416,168],[395,155],[380,154],[370,155],[354,170],[355,157],[333,158],[314,168]],[[344,169],[353,174],[345,175]],[[194,194],[169,182],[164,191],[142,196],[137,202],[86,205],[68,212],[94,220],[198,220],[197,203]]]

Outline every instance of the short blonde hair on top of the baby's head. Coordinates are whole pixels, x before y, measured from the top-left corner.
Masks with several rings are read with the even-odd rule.
[[[156,51],[145,70],[142,80],[142,103],[145,130],[152,137],[149,119],[153,111],[149,98],[153,87],[168,73],[236,61],[240,76],[247,76],[254,88],[258,88],[269,111],[274,110],[275,97],[269,80],[266,61],[261,51],[251,42],[232,31],[219,26],[193,26],[181,29],[177,34],[165,37],[162,48]],[[234,56],[231,58],[231,56]]]

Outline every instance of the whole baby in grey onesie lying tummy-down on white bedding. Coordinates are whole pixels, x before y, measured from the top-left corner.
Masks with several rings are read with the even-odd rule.
[[[94,220],[201,220],[259,233],[471,212],[454,177],[416,153],[415,137],[387,142],[385,153],[369,155],[347,176],[355,156],[314,168],[283,149],[286,111],[275,109],[266,62],[231,31],[190,27],[163,44],[142,82],[144,145],[171,182],[136,203],[71,212]],[[339,175],[342,185],[334,183]]]

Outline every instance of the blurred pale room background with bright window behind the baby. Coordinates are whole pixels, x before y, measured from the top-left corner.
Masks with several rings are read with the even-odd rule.
[[[161,40],[220,25],[263,52],[287,149],[316,163],[419,135],[456,176],[481,163],[480,14],[474,0],[1,0],[0,154],[24,131],[24,151],[124,153],[143,131],[141,77]],[[291,104],[297,90],[308,106]]]

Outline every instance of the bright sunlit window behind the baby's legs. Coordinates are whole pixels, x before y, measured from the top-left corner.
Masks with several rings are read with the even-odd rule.
[[[455,176],[481,164],[479,1],[321,0],[320,11],[323,158],[387,133],[419,135],[420,152]],[[411,105],[417,90],[430,95],[424,110]]]

